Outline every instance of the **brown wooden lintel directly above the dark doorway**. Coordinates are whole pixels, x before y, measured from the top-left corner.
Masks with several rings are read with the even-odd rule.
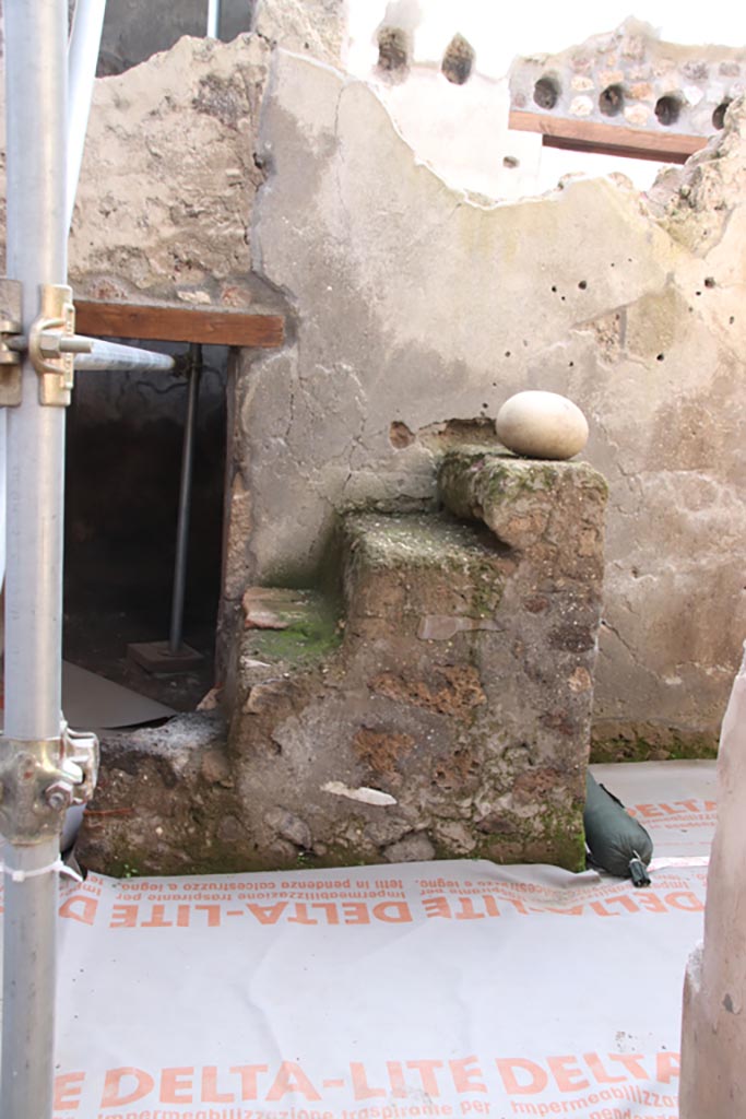
[[[97,338],[276,349],[284,341],[285,320],[281,314],[79,299],[75,301],[75,329]]]

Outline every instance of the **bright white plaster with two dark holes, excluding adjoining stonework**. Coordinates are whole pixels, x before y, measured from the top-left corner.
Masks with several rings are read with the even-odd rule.
[[[344,68],[376,88],[417,158],[459,189],[517,200],[553,189],[567,173],[614,170],[645,189],[657,163],[542,148],[537,133],[508,128],[508,72],[519,50],[548,41],[565,47],[582,36],[584,19],[595,26],[597,18],[575,10],[563,15],[568,19],[555,27],[554,11],[532,9],[529,27],[513,11],[506,26],[499,12],[473,0],[457,10],[441,0],[349,0]],[[379,65],[378,37],[388,27],[406,34],[410,53],[409,64],[394,74]],[[448,44],[460,34],[474,51],[472,72],[461,85],[442,70]]]

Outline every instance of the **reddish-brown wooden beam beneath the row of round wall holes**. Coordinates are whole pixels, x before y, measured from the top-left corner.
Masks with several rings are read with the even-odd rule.
[[[661,163],[686,163],[690,156],[707,145],[708,137],[676,132],[648,132],[622,124],[596,121],[570,121],[566,116],[510,111],[508,126],[519,132],[539,132],[545,148],[587,151],[597,156],[624,156],[651,159]]]

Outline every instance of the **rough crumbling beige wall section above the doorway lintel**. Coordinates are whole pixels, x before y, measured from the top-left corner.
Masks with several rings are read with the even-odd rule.
[[[69,245],[78,294],[251,301],[267,57],[257,36],[183,38],[96,83]]]

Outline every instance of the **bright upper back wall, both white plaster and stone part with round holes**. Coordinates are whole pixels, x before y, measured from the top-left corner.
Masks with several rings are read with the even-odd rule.
[[[671,6],[658,10],[651,0],[644,15],[663,23],[665,38],[674,41],[664,41],[655,26],[614,3],[602,17],[582,2],[561,12],[538,3],[526,12],[513,10],[507,21],[503,12],[479,0],[463,0],[455,9],[444,0],[349,0],[343,59],[349,73],[375,85],[418,158],[455,187],[516,200],[553,189],[570,172],[618,170],[648,189],[664,164],[542,148],[537,133],[508,128],[513,107],[545,112],[548,119],[710,135],[718,106],[721,126],[721,106],[743,93],[744,51],[703,44],[740,44],[740,30],[727,16],[710,13],[705,20],[700,13],[698,19]],[[620,26],[588,38],[598,30],[599,18],[607,28]],[[378,45],[381,32],[391,29],[407,46],[406,62],[394,70],[380,65]],[[442,67],[459,34],[474,58],[465,82],[453,84]],[[529,48],[537,53],[526,57]],[[546,111],[533,97],[542,78],[557,91],[556,103]],[[621,91],[614,104],[602,96],[608,86]]]

